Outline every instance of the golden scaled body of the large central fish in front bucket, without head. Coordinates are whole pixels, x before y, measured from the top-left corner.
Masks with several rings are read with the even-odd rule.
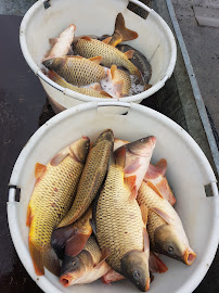
[[[124,184],[120,166],[111,166],[96,205],[96,238],[100,249],[110,250],[107,263],[120,271],[120,259],[132,250],[143,251],[143,220],[136,200]]]

